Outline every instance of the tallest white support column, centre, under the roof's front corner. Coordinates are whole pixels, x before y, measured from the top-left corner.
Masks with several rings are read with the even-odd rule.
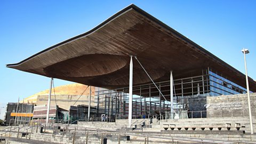
[[[132,76],[133,76],[133,63],[132,63],[132,56],[130,61],[130,81],[129,81],[129,127],[132,124]]]

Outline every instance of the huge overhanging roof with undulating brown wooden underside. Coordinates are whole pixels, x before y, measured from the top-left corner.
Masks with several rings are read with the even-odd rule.
[[[245,76],[201,46],[135,5],[119,11],[82,35],[51,46],[19,63],[7,65],[29,73],[114,89],[129,85],[130,55],[135,55],[154,81],[202,74],[211,67],[245,87]],[[256,83],[249,79],[251,91]],[[135,61],[133,84],[150,79]]]

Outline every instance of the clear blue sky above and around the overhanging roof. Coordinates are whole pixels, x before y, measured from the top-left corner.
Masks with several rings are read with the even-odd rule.
[[[85,33],[135,4],[256,79],[256,1],[0,1],[0,106],[49,89],[50,78],[6,68],[68,38]],[[55,79],[55,86],[71,82]],[[1,115],[3,115],[3,110]],[[0,116],[0,118],[2,118]]]

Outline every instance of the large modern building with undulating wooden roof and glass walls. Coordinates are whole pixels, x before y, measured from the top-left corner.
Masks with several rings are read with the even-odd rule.
[[[103,87],[98,113],[116,118],[174,118],[205,110],[199,97],[246,93],[244,74],[135,5],[7,67]]]

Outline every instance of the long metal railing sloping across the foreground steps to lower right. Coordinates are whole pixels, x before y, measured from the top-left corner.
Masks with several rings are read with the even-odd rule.
[[[37,124],[37,125],[32,125],[32,126],[28,127],[27,129],[25,129],[26,133],[28,133],[28,130],[31,129],[29,139],[31,137],[31,133],[33,133],[33,127],[38,126],[38,125],[40,125],[40,126],[44,125],[45,129],[46,129],[46,126],[47,126],[46,124]],[[21,129],[24,128],[24,127],[26,128],[26,126],[27,125],[22,126],[22,127],[17,126],[17,127],[14,127],[14,129],[12,129],[12,127],[10,127],[9,131],[5,131],[5,132],[1,133],[1,139],[3,138],[3,134],[9,132],[9,140],[10,140],[10,133],[14,132],[14,130],[16,130],[16,129],[18,129],[17,138],[19,138],[19,133],[23,133],[23,132],[21,132]],[[53,126],[53,133],[54,133],[54,127],[55,126],[61,126],[61,125],[60,124],[49,124],[49,129],[52,126]],[[5,130],[7,130],[7,129],[5,129]],[[118,143],[120,142],[120,137],[121,136],[127,136],[127,135],[132,135],[132,136],[136,136],[136,137],[140,137],[140,138],[145,138],[145,143],[146,142],[148,143],[149,138],[170,140],[172,142],[174,142],[174,141],[175,142],[183,141],[183,142],[202,142],[202,143],[254,143],[254,142],[247,142],[247,141],[245,142],[245,141],[227,141],[227,140],[216,140],[216,139],[205,139],[205,138],[170,137],[169,135],[149,134],[149,133],[135,134],[133,132],[101,130],[101,129],[86,128],[86,127],[69,126],[69,125],[65,125],[65,128],[63,127],[63,131],[62,131],[63,134],[65,133],[64,130],[69,130],[69,133],[71,133],[71,139],[72,139],[73,143],[75,143],[76,134],[78,134],[78,133],[86,134],[86,143],[88,141],[89,134],[101,135],[101,141],[103,139],[103,134],[118,135]],[[17,131],[15,131],[15,133],[16,132]],[[66,131],[66,133],[67,133],[67,131]],[[26,139],[27,139],[27,136],[26,136]]]

